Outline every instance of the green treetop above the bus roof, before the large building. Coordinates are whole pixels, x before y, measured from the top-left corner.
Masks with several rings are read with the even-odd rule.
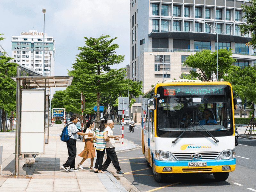
[[[230,73],[230,67],[236,61],[231,57],[231,50],[218,50],[219,79],[223,78],[225,73]],[[212,71],[217,71],[217,51],[202,50],[194,55],[189,55],[183,66],[199,69],[199,71],[190,71],[193,77],[199,78],[201,81],[212,81]]]

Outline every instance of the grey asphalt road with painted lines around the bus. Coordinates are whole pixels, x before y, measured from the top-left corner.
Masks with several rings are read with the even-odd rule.
[[[122,134],[122,126],[115,124],[114,135]],[[134,133],[124,126],[124,138],[141,146],[140,125],[135,125]],[[117,154],[124,177],[141,192],[165,191],[243,191],[256,192],[255,186],[255,140],[239,138],[236,146],[236,170],[229,174],[228,180],[216,182],[213,175],[177,174],[169,175],[165,183],[156,183],[152,168],[148,168],[141,148]]]

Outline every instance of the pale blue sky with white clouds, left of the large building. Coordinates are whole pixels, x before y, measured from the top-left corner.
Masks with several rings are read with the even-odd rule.
[[[45,23],[42,9],[46,9]],[[37,30],[53,36],[54,76],[67,76],[68,70],[72,70],[79,54],[77,48],[85,45],[84,36],[117,37],[113,42],[119,45],[116,54],[125,57],[112,68],[122,68],[130,62],[129,0],[5,0],[0,3],[0,18],[0,34],[6,38],[0,44],[9,56],[12,35]]]

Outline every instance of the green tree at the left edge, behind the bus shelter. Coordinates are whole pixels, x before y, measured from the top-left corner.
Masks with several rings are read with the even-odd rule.
[[[3,109],[2,117],[5,117],[5,111],[14,111],[16,108],[16,83],[11,77],[16,76],[18,64],[11,63],[10,60],[12,59],[11,57],[0,56],[0,108]],[[3,118],[4,131],[6,131],[5,124],[5,118]]]

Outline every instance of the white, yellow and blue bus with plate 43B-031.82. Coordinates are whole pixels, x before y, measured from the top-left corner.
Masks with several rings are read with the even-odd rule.
[[[142,152],[156,182],[167,173],[208,173],[225,181],[236,167],[234,108],[228,82],[173,80],[141,100]]]

